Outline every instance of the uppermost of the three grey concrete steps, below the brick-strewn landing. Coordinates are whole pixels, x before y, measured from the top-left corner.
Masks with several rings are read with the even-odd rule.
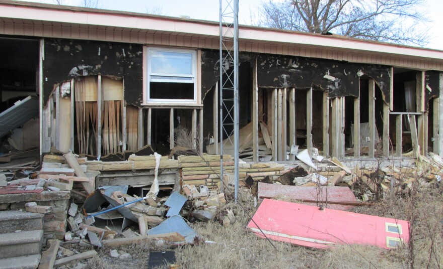
[[[0,211],[0,233],[43,229],[43,214],[22,211]]]

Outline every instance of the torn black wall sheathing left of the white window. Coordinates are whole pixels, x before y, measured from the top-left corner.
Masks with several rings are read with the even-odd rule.
[[[137,44],[72,39],[45,39],[43,94],[54,85],[88,75],[123,78],[124,99],[139,106],[143,98],[143,47]]]

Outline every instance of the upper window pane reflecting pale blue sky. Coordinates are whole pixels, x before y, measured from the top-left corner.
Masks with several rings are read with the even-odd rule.
[[[151,73],[192,75],[192,53],[151,51]]]

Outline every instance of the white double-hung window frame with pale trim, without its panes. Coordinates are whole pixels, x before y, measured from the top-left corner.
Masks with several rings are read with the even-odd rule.
[[[159,103],[159,104],[197,104],[197,83],[198,83],[198,74],[197,74],[197,50],[191,49],[176,49],[176,48],[162,48],[162,47],[145,47],[146,54],[144,57],[146,72],[145,72],[145,98],[144,102],[146,104]],[[192,74],[191,75],[177,75],[177,74],[161,74],[161,73],[151,73],[151,53],[152,51],[168,51],[168,52],[178,52],[178,53],[191,53],[192,54]],[[160,79],[155,78],[151,79],[151,76],[175,76],[175,77],[190,77],[192,78],[190,81],[180,80],[180,79]],[[194,99],[155,99],[150,97],[150,83],[151,82],[169,82],[169,83],[193,83],[194,84]]]

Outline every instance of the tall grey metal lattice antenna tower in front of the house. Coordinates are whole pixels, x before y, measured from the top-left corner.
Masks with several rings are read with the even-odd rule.
[[[220,1],[220,180],[225,147],[234,151],[235,200],[239,185],[239,0]],[[225,114],[224,114],[225,111]],[[227,141],[223,145],[223,137]],[[232,154],[232,152],[230,152]],[[223,190],[223,183],[220,184]]]

